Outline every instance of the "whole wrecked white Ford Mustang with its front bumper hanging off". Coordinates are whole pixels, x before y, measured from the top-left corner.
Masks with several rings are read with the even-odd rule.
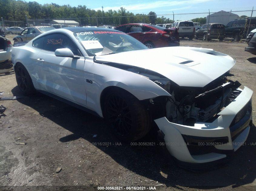
[[[123,141],[155,124],[184,167],[222,163],[247,139],[252,91],[226,77],[235,61],[212,49],[147,49],[106,28],[45,32],[12,50],[18,86],[94,112]]]

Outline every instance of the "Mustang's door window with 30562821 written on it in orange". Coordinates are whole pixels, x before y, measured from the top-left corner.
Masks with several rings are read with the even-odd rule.
[[[59,48],[69,48],[74,55],[81,56],[75,43],[65,34],[54,33],[45,36],[44,50],[55,52]]]

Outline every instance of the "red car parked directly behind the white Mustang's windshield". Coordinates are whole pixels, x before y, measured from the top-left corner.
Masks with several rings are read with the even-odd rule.
[[[175,27],[166,29],[152,24],[131,23],[119,25],[115,30],[131,35],[148,48],[180,46],[178,29]]]

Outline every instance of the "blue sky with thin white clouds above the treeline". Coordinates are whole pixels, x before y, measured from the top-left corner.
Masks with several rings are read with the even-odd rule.
[[[27,2],[33,0],[25,0]],[[148,14],[149,11],[155,11],[157,14],[172,14],[182,12],[201,12],[205,11],[230,11],[232,10],[249,10],[254,6],[256,10],[255,0],[75,0],[75,1],[63,1],[63,0],[34,0],[40,4],[56,3],[58,5],[69,4],[71,6],[86,5],[91,9],[101,9],[103,6],[104,11],[109,9],[118,10],[120,7],[124,7],[133,13]]]

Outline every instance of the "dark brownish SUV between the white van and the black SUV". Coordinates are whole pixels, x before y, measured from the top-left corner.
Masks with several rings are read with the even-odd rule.
[[[208,35],[207,35],[208,31]],[[222,41],[224,39],[225,25],[221,23],[209,23],[203,24],[196,32],[195,39],[202,38],[203,41],[211,39],[219,39]]]

